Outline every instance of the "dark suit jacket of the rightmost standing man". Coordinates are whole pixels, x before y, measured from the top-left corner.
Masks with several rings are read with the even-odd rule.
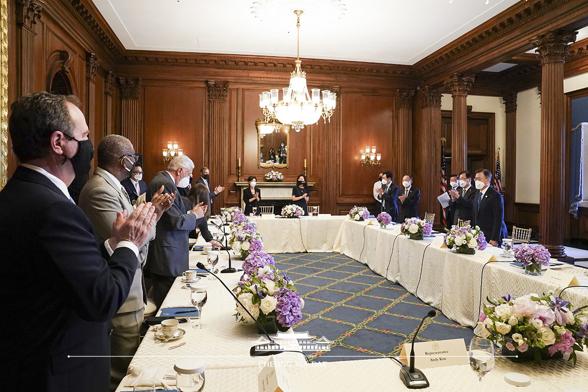
[[[505,225],[505,203],[502,195],[489,187],[482,197],[480,207],[477,206],[477,200],[480,191],[476,190],[472,197],[474,225],[477,225],[484,232],[486,241],[494,240],[500,244],[502,239],[507,236]]]

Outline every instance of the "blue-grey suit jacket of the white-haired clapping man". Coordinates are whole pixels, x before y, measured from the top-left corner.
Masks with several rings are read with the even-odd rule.
[[[146,200],[163,185],[164,193],[177,192],[172,177],[165,170],[153,177],[147,186]],[[157,223],[155,240],[149,246],[147,267],[162,276],[180,276],[188,269],[188,233],[196,227],[196,215],[186,213],[182,197],[176,195],[173,205]]]

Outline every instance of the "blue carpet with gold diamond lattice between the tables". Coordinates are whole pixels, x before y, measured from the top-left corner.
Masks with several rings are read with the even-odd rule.
[[[332,340],[330,351],[310,354],[313,361],[396,356],[423,316],[432,309],[399,284],[339,253],[279,253],[276,267],[288,274],[305,301],[294,330]],[[417,341],[465,339],[473,330],[437,311],[425,320]]]

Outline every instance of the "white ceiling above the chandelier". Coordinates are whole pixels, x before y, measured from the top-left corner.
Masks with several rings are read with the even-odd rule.
[[[406,65],[518,1],[93,0],[126,49],[295,57],[301,8],[301,58]]]

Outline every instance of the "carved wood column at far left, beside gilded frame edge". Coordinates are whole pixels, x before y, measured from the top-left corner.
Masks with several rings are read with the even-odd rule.
[[[16,97],[35,92],[35,25],[41,1],[16,0]]]

